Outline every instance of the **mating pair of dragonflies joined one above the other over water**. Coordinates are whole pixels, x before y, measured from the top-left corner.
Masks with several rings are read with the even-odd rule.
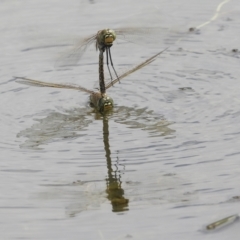
[[[65,89],[75,89],[82,92],[86,92],[90,94],[90,105],[97,109],[99,112],[104,112],[113,108],[113,99],[106,94],[106,89],[110,88],[121,79],[125,78],[129,74],[145,67],[146,65],[153,62],[163,51],[153,55],[152,57],[148,58],[146,61],[140,63],[139,65],[135,66],[134,68],[126,71],[125,73],[121,74],[120,76],[117,75],[117,72],[113,66],[112,56],[110,48],[113,45],[113,42],[116,39],[116,35],[123,35],[125,32],[123,30],[113,31],[110,29],[104,29],[98,31],[97,34],[85,39],[79,46],[77,46],[71,53],[68,54],[67,58],[75,59],[76,61],[79,60],[85,50],[90,46],[92,43],[95,43],[96,50],[99,50],[99,89],[100,91],[96,92],[93,90],[88,90],[81,86],[71,85],[71,84],[55,84],[55,83],[47,83],[42,81],[37,81],[25,77],[16,77],[17,81],[20,83],[40,86],[40,87],[53,87],[53,88],[65,88]],[[104,78],[104,52],[106,52],[106,62],[108,71],[111,77],[111,81],[105,84]],[[76,57],[77,56],[77,57]],[[113,71],[116,75],[116,78],[113,79],[110,68],[109,68],[109,60],[110,64],[113,68]]]

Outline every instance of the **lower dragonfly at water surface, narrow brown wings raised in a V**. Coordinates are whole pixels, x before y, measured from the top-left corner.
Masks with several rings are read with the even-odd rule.
[[[93,91],[86,89],[82,86],[79,85],[73,85],[73,84],[58,84],[58,83],[48,83],[48,82],[43,82],[43,81],[38,81],[30,78],[25,78],[25,77],[15,77],[16,81],[19,83],[27,84],[27,85],[33,85],[33,86],[38,86],[38,87],[52,87],[52,88],[65,88],[65,89],[73,89],[73,90],[78,90],[81,92],[85,92],[90,94],[90,106],[95,108],[98,112],[103,113],[106,111],[109,111],[113,108],[113,99],[106,94],[106,90],[112,87],[114,84],[119,82],[121,79],[127,77],[131,73],[136,72],[137,70],[149,65],[153,61],[156,60],[156,58],[162,54],[164,49],[161,52],[158,52],[157,54],[153,55],[152,57],[148,58],[144,62],[138,64],[137,66],[133,67],[132,69],[124,72],[114,80],[111,80],[107,84],[105,84],[105,79],[104,79],[104,74],[100,73],[100,91]]]

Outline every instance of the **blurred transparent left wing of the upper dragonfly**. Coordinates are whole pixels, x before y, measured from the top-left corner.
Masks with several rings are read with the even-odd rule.
[[[76,65],[87,48],[95,42],[96,34],[78,41],[78,43],[71,50],[68,50],[61,55],[61,57],[56,61],[55,66],[63,67]]]

